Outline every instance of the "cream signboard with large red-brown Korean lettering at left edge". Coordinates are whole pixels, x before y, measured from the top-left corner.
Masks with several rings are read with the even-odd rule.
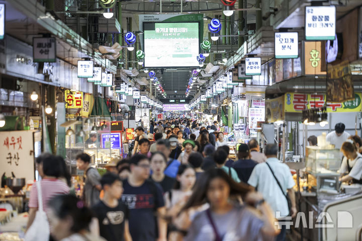
[[[34,180],[33,131],[0,132],[0,143],[2,173]]]

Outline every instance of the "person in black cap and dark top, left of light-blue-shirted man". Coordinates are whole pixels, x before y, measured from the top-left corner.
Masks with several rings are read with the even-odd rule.
[[[239,179],[247,183],[251,175],[252,170],[256,166],[257,162],[250,159],[249,146],[246,144],[240,144],[237,154],[238,160],[234,162],[232,167],[238,174]]]

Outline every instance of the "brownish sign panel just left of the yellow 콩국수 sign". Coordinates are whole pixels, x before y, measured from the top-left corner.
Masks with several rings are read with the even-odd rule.
[[[274,99],[265,99],[266,123],[284,121],[284,116],[284,95]]]

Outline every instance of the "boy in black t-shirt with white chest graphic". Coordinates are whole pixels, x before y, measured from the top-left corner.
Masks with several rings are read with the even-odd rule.
[[[132,241],[128,225],[128,207],[119,201],[122,196],[122,181],[118,175],[106,173],[101,184],[104,198],[92,207],[98,219],[100,235],[108,241]]]

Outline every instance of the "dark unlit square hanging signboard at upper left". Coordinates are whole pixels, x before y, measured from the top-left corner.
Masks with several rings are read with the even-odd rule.
[[[33,38],[33,62],[56,62],[55,38]]]

